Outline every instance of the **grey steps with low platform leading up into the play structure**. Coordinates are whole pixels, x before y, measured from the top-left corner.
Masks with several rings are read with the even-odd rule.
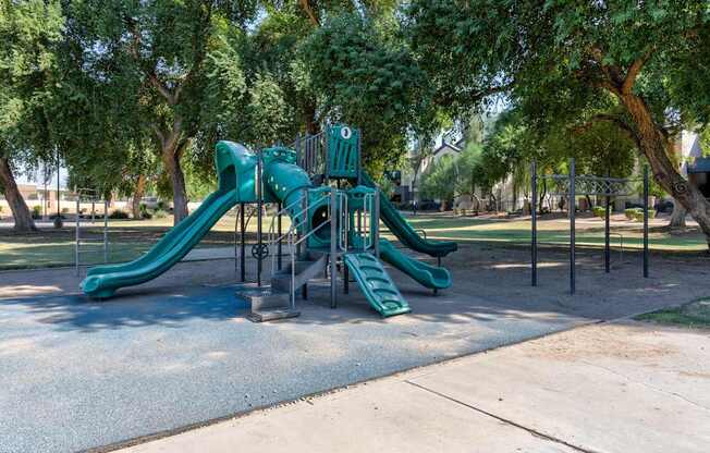
[[[302,289],[310,279],[322,274],[328,265],[327,254],[307,252],[295,261],[294,287]],[[254,322],[294,318],[301,315],[291,305],[291,262],[271,277],[271,285],[249,287],[237,292],[237,296],[252,303],[247,318]]]

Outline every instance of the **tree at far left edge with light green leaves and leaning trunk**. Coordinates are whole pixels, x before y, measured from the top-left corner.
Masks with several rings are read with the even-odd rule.
[[[0,189],[17,231],[36,230],[14,175],[52,151],[47,105],[63,23],[57,1],[0,1]]]

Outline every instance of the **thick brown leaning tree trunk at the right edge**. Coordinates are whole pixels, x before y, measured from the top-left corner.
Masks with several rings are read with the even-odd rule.
[[[710,248],[710,203],[681,175],[669,158],[666,142],[644,99],[632,93],[622,93],[620,98],[634,120],[639,147],[651,166],[653,177],[698,222]]]

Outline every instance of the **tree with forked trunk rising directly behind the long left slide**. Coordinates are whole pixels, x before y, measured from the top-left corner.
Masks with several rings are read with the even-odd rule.
[[[71,11],[83,24],[84,50],[93,52],[100,66],[138,82],[124,84],[139,90],[142,115],[134,121],[150,127],[172,185],[174,221],[180,222],[187,216],[182,160],[192,151],[200,107],[209,95],[205,61],[217,24],[246,24],[256,12],[253,2],[86,1],[73,2]]]

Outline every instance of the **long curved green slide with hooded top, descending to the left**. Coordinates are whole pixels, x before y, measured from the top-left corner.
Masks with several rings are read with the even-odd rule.
[[[84,293],[94,298],[111,297],[118,289],[152,280],[184,258],[236,203],[254,197],[256,160],[249,157],[253,155],[242,145],[220,142],[215,155],[217,191],[138,259],[89,269],[81,285]]]

